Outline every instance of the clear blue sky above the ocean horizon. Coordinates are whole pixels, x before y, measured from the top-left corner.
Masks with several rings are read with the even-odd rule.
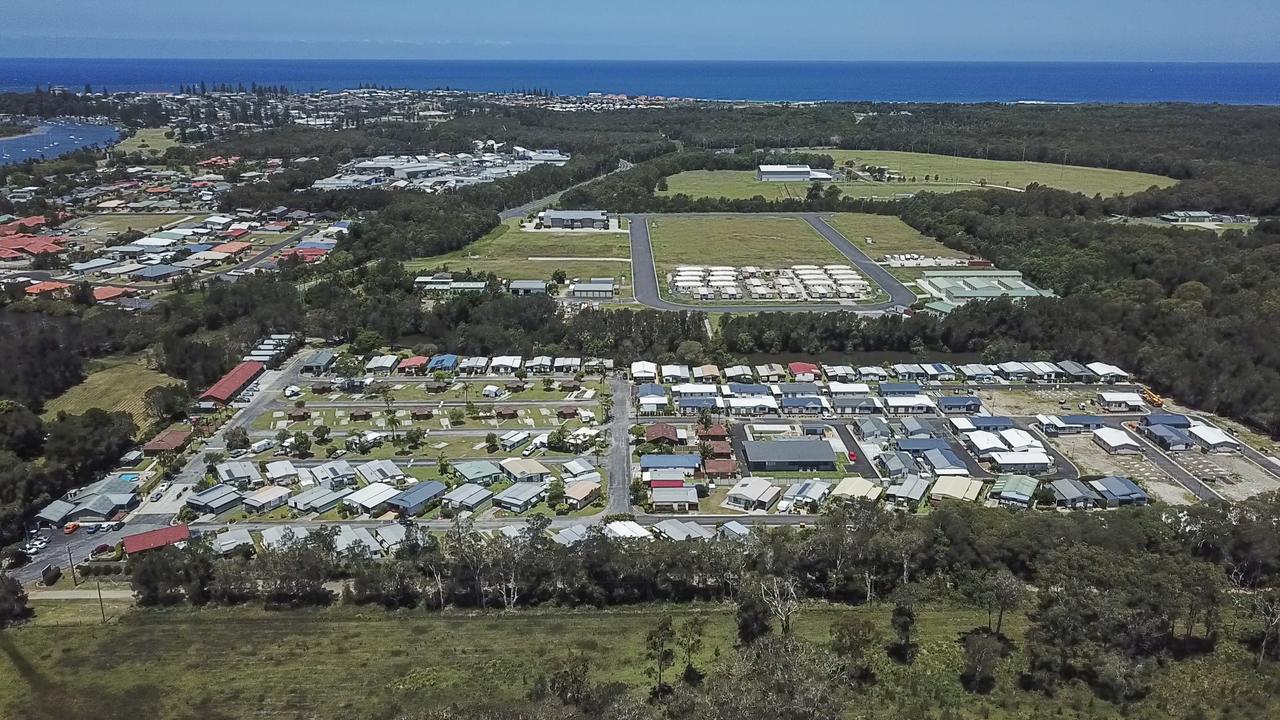
[[[618,6],[623,5],[623,6]],[[4,0],[23,58],[1280,61],[1276,0]]]

